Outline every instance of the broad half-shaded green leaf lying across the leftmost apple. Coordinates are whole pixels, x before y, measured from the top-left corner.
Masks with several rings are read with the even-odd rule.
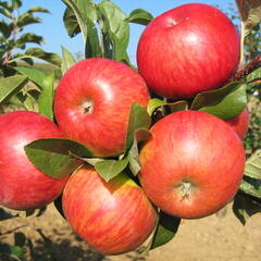
[[[83,158],[92,157],[86,147],[71,139],[37,139],[25,146],[30,162],[54,178],[70,175],[82,164],[70,151]]]

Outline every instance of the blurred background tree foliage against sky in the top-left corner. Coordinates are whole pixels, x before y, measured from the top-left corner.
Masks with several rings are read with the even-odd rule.
[[[4,76],[14,74],[12,66],[17,60],[23,60],[28,64],[34,63],[34,59],[60,65],[61,60],[55,53],[48,53],[41,48],[27,48],[27,44],[40,46],[42,36],[34,33],[24,33],[27,25],[38,24],[41,18],[36,13],[50,13],[41,7],[32,7],[21,13],[22,0],[10,0],[0,2],[0,70]]]

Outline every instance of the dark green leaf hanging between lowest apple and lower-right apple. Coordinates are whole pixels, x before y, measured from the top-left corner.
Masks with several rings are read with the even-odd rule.
[[[153,233],[152,240],[149,245],[149,249],[154,249],[157,247],[165,245],[171,239],[173,239],[177,233],[179,224],[179,217],[172,216],[160,211],[159,221]]]

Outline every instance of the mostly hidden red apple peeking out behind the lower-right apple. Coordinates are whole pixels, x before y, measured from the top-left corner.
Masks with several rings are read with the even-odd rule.
[[[237,133],[240,139],[244,139],[248,132],[248,125],[249,125],[248,109],[245,109],[238,116],[228,119],[225,122],[233,127],[233,129]]]

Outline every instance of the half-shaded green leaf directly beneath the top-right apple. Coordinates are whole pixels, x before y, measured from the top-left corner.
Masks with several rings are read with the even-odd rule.
[[[198,94],[190,110],[208,112],[227,120],[237,116],[246,105],[246,84],[234,82],[220,89]]]

